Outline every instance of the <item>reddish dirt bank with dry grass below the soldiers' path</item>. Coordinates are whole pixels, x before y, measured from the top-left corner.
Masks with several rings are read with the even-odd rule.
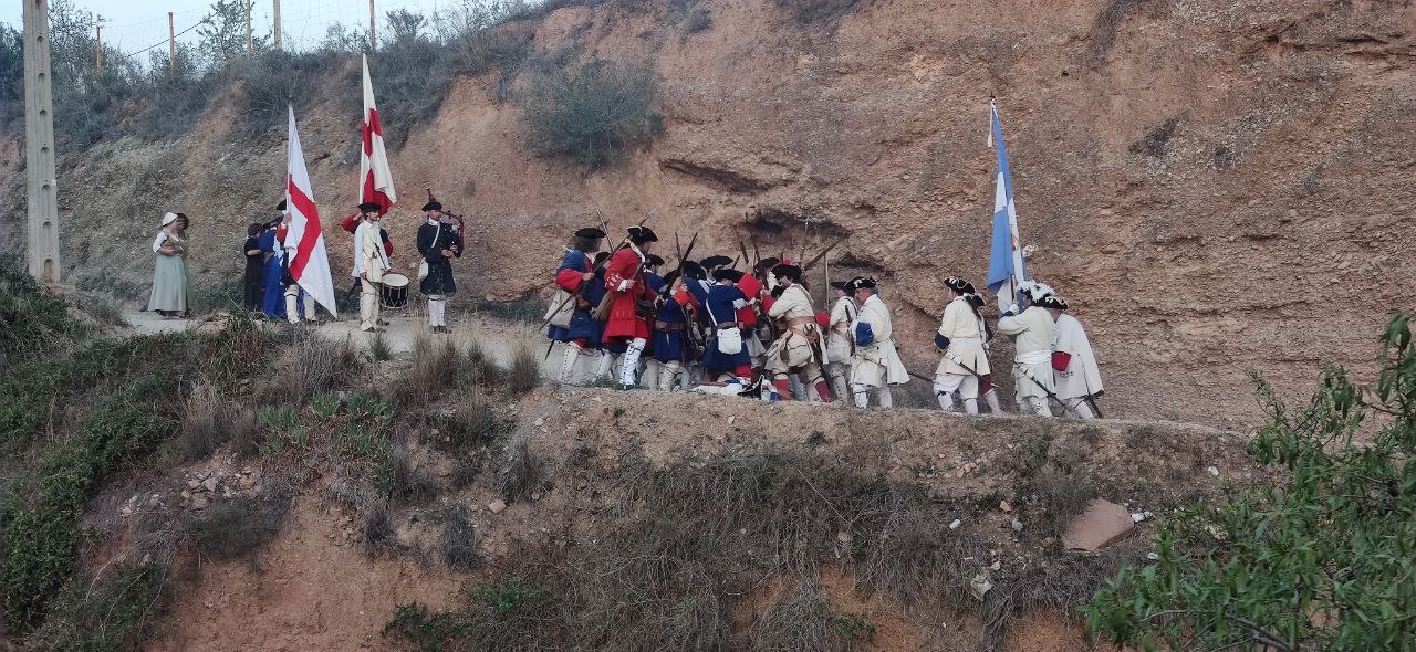
[[[372,543],[368,513],[317,472],[266,549],[200,567],[149,649],[379,649],[395,645],[379,635],[394,607],[411,601],[477,614],[486,636],[510,636],[483,641],[493,646],[595,649],[613,631],[620,644],[694,635],[700,649],[765,649],[762,636],[782,625],[773,618],[796,618],[827,638],[855,622],[854,649],[1086,649],[1072,610],[1092,583],[1144,559],[1151,529],[1068,553],[1058,539],[1070,518],[1096,496],[1165,513],[1253,472],[1243,436],[1161,421],[569,388],[507,400],[497,414],[510,430],[463,488],[450,477],[473,453],[438,446],[438,430],[404,431],[436,498],[391,509],[391,542]],[[467,570],[446,560],[455,512],[474,529]],[[664,557],[641,567],[639,554]],[[657,564],[698,567],[704,580],[661,577]],[[674,591],[715,586],[716,607],[667,632],[654,618],[670,598],[641,584],[651,577]],[[470,610],[469,587],[508,578],[544,587],[552,602],[513,621],[459,611]],[[983,601],[969,593],[978,578],[993,587]],[[634,605],[636,595],[647,601]],[[821,607],[803,612],[793,600]],[[828,615],[816,621],[813,610]]]

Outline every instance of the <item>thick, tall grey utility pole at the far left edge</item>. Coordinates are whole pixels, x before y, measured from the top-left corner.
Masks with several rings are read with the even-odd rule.
[[[30,274],[59,281],[59,199],[54,184],[54,98],[50,88],[50,0],[24,0],[24,178]]]

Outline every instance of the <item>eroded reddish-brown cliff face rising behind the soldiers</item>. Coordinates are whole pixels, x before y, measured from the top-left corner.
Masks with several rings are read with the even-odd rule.
[[[1029,269],[1086,325],[1109,414],[1252,423],[1246,368],[1287,392],[1306,392],[1320,363],[1369,371],[1385,311],[1416,304],[1409,3],[705,4],[714,24],[697,34],[667,7],[616,3],[504,25],[575,61],[654,65],[667,133],[588,174],[530,151],[521,110],[496,100],[498,72],[462,78],[391,153],[399,264],[415,260],[425,185],[477,229],[457,264],[462,301],[542,290],[564,235],[595,208],[622,229],[660,206],[651,226],[697,232],[695,257],[735,255],[735,232],[763,255],[807,256],[844,235],[833,276],[881,279],[906,363],[929,372],[939,280],[987,272],[995,95]],[[300,116],[337,279],[348,240],[331,222],[354,202],[358,116],[333,96],[355,89],[331,79],[331,99]],[[245,223],[279,198],[285,150],[283,132],[232,137],[229,112],[181,140],[65,154],[74,281],[140,290],[170,206],[197,216],[201,281],[235,280]],[[14,195],[0,236],[14,243],[21,177],[0,170]]]

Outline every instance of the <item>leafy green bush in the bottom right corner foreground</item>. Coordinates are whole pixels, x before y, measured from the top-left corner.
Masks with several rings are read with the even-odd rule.
[[[1123,570],[1090,631],[1143,649],[1413,649],[1416,348],[1392,313],[1376,388],[1330,368],[1296,412],[1256,373],[1269,421],[1249,443],[1284,479],[1233,485],[1163,525],[1160,560]],[[1375,431],[1369,443],[1359,431]]]

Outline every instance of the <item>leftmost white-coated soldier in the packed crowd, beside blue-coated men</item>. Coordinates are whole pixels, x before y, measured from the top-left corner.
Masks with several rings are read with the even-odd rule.
[[[831,390],[821,375],[826,361],[826,342],[821,327],[816,322],[816,307],[811,296],[801,286],[801,267],[777,264],[772,267],[782,294],[767,311],[767,318],[780,320],[780,334],[767,348],[766,368],[772,383],[783,400],[792,396],[789,376],[796,375],[803,386],[816,388],[823,402],[831,402]]]

